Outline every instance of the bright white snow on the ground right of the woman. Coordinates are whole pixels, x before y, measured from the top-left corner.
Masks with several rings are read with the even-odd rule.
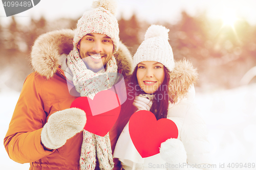
[[[195,102],[209,129],[217,168],[223,163],[225,169],[228,163],[256,164],[256,84],[197,93]]]

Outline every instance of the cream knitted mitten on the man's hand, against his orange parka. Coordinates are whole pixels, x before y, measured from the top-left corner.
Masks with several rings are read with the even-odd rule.
[[[86,113],[77,108],[69,108],[53,113],[42,128],[41,142],[49,149],[62,147],[86,125]]]

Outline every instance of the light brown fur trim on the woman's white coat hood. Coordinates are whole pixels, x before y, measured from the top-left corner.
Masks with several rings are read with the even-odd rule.
[[[177,103],[187,96],[190,88],[194,88],[198,72],[191,62],[184,59],[175,62],[175,68],[169,73],[169,76],[170,102]]]

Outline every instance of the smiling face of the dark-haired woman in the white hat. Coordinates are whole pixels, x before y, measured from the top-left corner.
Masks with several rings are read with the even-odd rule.
[[[136,75],[140,88],[153,94],[164,81],[164,66],[155,61],[143,61],[138,64]]]

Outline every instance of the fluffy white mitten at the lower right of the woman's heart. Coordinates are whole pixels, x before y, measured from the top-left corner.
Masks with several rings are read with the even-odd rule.
[[[179,165],[186,163],[187,154],[182,141],[175,138],[167,139],[161,143],[160,156],[170,166],[168,169],[179,169]],[[183,169],[183,168],[182,168]]]

